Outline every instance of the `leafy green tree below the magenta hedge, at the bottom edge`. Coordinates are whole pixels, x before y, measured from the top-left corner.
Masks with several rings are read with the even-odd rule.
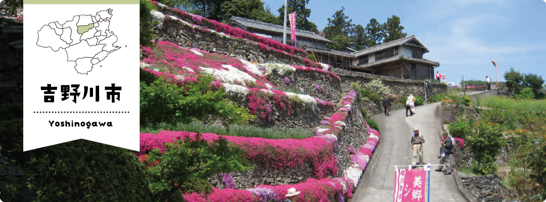
[[[210,192],[212,185],[206,179],[212,175],[254,168],[239,147],[222,137],[209,142],[197,134],[165,147],[164,152],[152,150],[144,162],[146,181],[156,201],[183,201],[183,193]]]

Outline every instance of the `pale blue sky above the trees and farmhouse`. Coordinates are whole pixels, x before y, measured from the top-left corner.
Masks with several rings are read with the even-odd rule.
[[[262,0],[271,11],[283,0]],[[392,15],[401,19],[408,35],[414,34],[428,49],[424,58],[440,62],[436,68],[447,82],[458,85],[466,79],[496,80],[510,67],[520,73],[542,75],[546,79],[546,2],[545,0],[413,0],[348,1],[310,0],[310,20],[319,29],[328,24],[336,10],[354,24],[364,27],[371,18],[380,23]],[[435,70],[435,73],[436,73]]]

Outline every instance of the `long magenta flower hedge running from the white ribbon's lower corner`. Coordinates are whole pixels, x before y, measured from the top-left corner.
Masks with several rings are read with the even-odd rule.
[[[173,142],[174,139],[185,139],[187,137],[194,138],[195,134],[190,132],[170,132],[167,130],[162,130],[162,132],[156,135],[140,133],[140,152],[137,155],[139,158],[144,158],[147,152],[155,148],[163,151],[165,142]],[[246,158],[262,163],[266,168],[298,168],[307,162],[313,165],[313,174],[317,179],[337,174],[333,146],[330,142],[322,138],[271,140],[224,136],[212,133],[203,133],[201,135],[203,139],[209,141],[218,139],[218,136],[224,137],[229,142],[239,145],[245,151]]]

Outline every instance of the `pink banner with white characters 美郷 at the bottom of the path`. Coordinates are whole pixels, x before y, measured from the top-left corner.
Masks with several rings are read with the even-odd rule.
[[[394,202],[425,201],[425,170],[396,169],[394,177]]]

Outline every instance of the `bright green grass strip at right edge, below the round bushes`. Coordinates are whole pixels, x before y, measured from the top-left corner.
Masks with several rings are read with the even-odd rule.
[[[480,106],[506,110],[546,111],[546,100],[511,99],[496,96],[484,97],[479,100]]]

